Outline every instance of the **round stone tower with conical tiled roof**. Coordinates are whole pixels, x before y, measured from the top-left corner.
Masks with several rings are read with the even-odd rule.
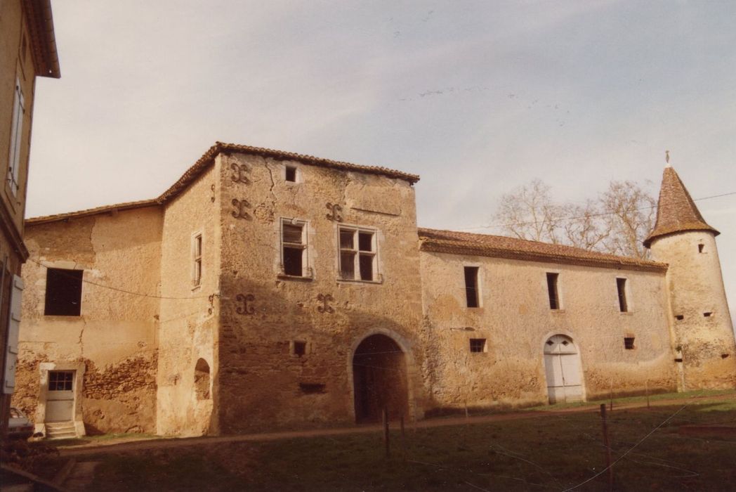
[[[669,265],[670,326],[681,390],[736,387],[736,341],[715,247],[718,234],[672,166],[665,167],[657,223],[644,245],[652,259]]]

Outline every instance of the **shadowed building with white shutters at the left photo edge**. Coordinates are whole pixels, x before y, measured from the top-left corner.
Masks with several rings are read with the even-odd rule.
[[[0,427],[15,388],[28,155],[36,77],[60,77],[50,0],[0,2]]]

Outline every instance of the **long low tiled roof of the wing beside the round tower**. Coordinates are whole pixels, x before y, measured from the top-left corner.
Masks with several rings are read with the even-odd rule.
[[[615,256],[579,247],[551,245],[545,242],[527,241],[514,237],[492,236],[437,229],[419,229],[420,247],[423,251],[545,263],[577,264],[592,267],[618,268],[622,270],[665,271],[667,264],[645,261],[626,256]]]

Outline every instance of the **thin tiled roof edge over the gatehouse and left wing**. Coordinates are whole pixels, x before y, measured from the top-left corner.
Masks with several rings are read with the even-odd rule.
[[[303,155],[294,152],[284,152],[283,150],[266,149],[263,147],[251,147],[250,145],[238,145],[238,144],[225,144],[223,142],[215,142],[207,152],[202,154],[197,162],[195,162],[189,169],[187,169],[181,178],[176,183],[171,185],[169,189],[160,194],[159,197],[152,200],[141,200],[138,202],[126,202],[117,203],[114,205],[104,205],[102,207],[88,208],[87,210],[80,210],[74,212],[68,212],[66,214],[55,214],[47,215],[45,217],[33,217],[32,219],[26,219],[26,224],[41,224],[44,222],[54,222],[55,220],[70,219],[72,217],[85,217],[93,214],[102,214],[113,210],[128,210],[130,208],[141,208],[149,207],[152,205],[163,205],[174,199],[189,184],[194,181],[210,164],[213,163],[213,159],[220,152],[222,153],[244,153],[244,154],[255,154],[263,155],[264,157],[270,157],[281,160],[289,161],[300,161],[303,164],[309,164],[312,166],[329,167],[331,169],[340,169],[342,171],[355,171],[364,172],[372,175],[382,175],[389,178],[397,178],[406,180],[409,183],[416,183],[419,180],[419,176],[411,175],[407,172],[394,171],[381,166],[361,166],[359,164],[350,164],[349,162],[342,161],[331,161],[330,159],[323,159],[314,157],[313,155]]]

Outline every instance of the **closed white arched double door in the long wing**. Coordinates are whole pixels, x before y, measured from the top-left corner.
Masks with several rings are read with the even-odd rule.
[[[583,399],[580,356],[570,337],[553,335],[545,342],[545,373],[550,403]]]

